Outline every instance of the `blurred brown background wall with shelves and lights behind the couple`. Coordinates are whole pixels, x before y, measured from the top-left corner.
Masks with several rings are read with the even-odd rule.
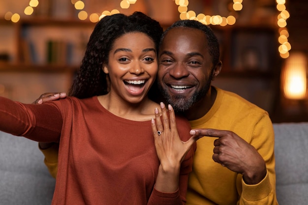
[[[293,53],[307,61],[307,8],[307,0],[1,0],[0,95],[31,103],[67,92],[99,18],[142,11],[164,29],[185,18],[209,25],[223,62],[215,86],[267,110],[273,122],[308,121],[307,84],[292,99],[280,77]],[[307,80],[306,71],[300,76]]]

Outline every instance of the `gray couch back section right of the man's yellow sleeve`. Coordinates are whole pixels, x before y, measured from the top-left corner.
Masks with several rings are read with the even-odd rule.
[[[274,124],[279,205],[308,205],[308,123]]]

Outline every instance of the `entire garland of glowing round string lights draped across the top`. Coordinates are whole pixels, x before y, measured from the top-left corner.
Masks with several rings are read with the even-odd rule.
[[[134,4],[137,0],[121,0],[120,6],[122,9],[127,9],[130,7],[131,4]],[[226,26],[226,25],[234,25],[236,22],[235,16],[229,15],[227,17],[223,17],[220,15],[205,15],[200,13],[196,15],[196,13],[192,10],[188,11],[188,0],[174,0],[175,4],[178,5],[178,11],[180,13],[180,19],[189,19],[189,20],[196,20],[205,25],[219,25],[219,26]],[[279,27],[279,47],[278,51],[281,58],[288,58],[289,51],[291,50],[291,44],[288,42],[289,32],[286,29],[286,20],[290,17],[289,12],[286,10],[285,0],[276,0],[277,2],[277,10],[279,14],[277,15],[277,25]],[[85,3],[83,0],[71,0],[71,3],[74,5],[75,9],[78,10],[78,18],[80,20],[86,20],[89,17],[89,20],[93,23],[98,22],[101,18],[109,15],[113,15],[116,13],[120,13],[118,9],[113,9],[111,11],[105,10],[101,13],[92,13],[88,14],[85,11]],[[243,9],[243,0],[233,0],[232,8],[234,11],[240,11]],[[38,0],[30,0],[29,6],[27,6],[24,10],[26,15],[31,15],[34,11],[34,8],[37,7],[39,4]],[[4,15],[4,19],[8,21],[12,21],[14,23],[20,20],[20,15],[18,13],[12,13],[10,11],[6,12]]]

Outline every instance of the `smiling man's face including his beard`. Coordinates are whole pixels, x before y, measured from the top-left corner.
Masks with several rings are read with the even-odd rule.
[[[213,63],[203,31],[173,28],[158,54],[160,92],[176,111],[186,111],[202,100],[211,87]]]

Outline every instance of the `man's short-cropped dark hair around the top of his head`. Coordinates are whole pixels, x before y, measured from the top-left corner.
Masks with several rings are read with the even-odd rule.
[[[204,34],[207,37],[208,45],[209,45],[209,53],[212,57],[212,63],[215,67],[216,64],[219,61],[219,43],[217,40],[216,35],[214,34],[213,30],[207,26],[204,25],[198,21],[195,20],[179,20],[173,23],[168,29],[166,29],[160,39],[159,45],[162,43],[162,40],[164,39],[165,35],[170,29],[176,28],[176,27],[187,27],[192,29],[199,29],[204,32]]]

